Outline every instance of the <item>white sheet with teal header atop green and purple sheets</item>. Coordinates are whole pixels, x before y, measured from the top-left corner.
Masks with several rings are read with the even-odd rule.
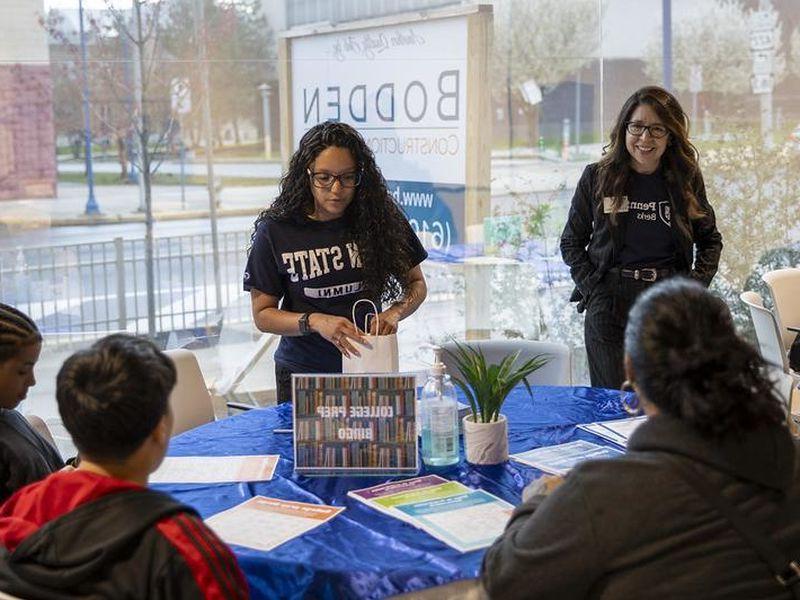
[[[487,548],[505,530],[514,507],[484,490],[395,506],[408,520],[460,552]]]

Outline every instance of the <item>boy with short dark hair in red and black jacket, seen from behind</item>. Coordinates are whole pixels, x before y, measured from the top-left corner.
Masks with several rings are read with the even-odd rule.
[[[0,508],[0,590],[29,600],[249,597],[197,513],[147,488],[169,443],[175,379],[169,357],[126,334],[64,362],[58,410],[81,462]]]

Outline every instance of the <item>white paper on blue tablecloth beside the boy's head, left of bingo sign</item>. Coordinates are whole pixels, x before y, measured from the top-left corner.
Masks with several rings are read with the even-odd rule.
[[[277,454],[260,456],[168,456],[150,483],[236,483],[269,481]]]

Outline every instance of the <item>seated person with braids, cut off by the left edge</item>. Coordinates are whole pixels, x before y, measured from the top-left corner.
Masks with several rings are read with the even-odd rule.
[[[64,466],[58,451],[15,410],[36,385],[33,368],[41,350],[34,322],[0,304],[0,504]]]

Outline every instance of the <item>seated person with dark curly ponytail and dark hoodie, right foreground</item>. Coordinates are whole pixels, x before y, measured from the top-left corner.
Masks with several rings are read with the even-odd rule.
[[[490,597],[800,597],[798,446],[725,303],[683,278],[644,291],[625,371],[649,419],[624,456],[532,484],[484,558]]]

